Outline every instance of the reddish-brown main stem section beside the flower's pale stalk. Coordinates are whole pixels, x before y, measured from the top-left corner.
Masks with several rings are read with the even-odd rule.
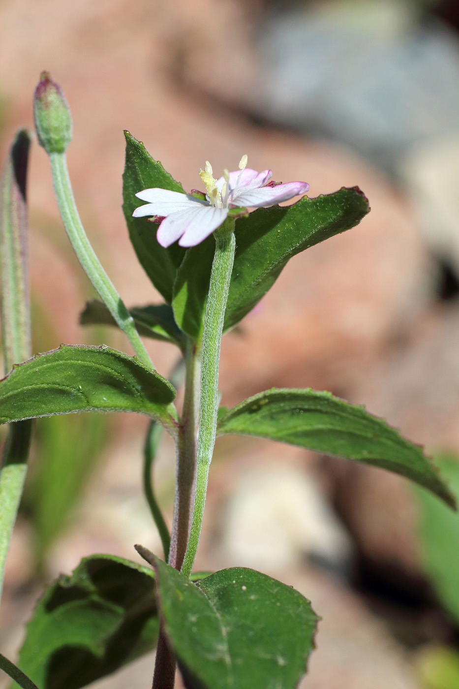
[[[183,411],[177,438],[176,489],[172,539],[168,562],[180,569],[185,557],[190,531],[190,512],[196,471],[196,411],[199,398],[200,359],[196,345],[187,340],[186,377]]]

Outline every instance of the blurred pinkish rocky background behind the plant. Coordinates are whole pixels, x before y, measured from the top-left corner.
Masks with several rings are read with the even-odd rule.
[[[332,391],[425,444],[454,486],[458,28],[456,0],[2,0],[2,160],[17,128],[32,126],[32,93],[49,70],[72,110],[83,223],[130,306],[159,295],[121,212],[123,129],[185,189],[206,159],[220,174],[245,153],[277,181],[308,181],[310,196],[361,187],[372,207],[363,223],[296,256],[225,336],[222,402],[272,386]],[[61,342],[130,351],[116,331],[79,326],[94,294],[37,144],[28,199],[34,352]],[[167,376],[176,352],[146,344]],[[12,658],[43,582],[90,553],[138,559],[136,542],[161,552],[141,492],[145,418],[70,415],[36,429],[0,615]],[[170,522],[167,440],[155,472]],[[196,564],[259,568],[312,600],[323,622],[302,688],[459,688],[458,518],[405,480],[225,438]],[[151,657],[135,667],[148,682]],[[132,684],[122,671],[98,686]]]

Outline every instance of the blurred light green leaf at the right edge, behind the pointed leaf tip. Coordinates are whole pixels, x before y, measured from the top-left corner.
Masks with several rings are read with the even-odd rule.
[[[459,497],[459,460],[452,455],[436,457],[442,475]],[[416,490],[422,562],[433,588],[459,623],[459,514],[451,512],[426,491]]]

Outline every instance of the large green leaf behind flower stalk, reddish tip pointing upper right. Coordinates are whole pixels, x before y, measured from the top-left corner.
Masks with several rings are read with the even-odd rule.
[[[238,323],[274,285],[287,261],[360,223],[369,212],[358,187],[302,198],[291,206],[259,208],[236,221],[236,254],[225,312],[225,331]],[[179,327],[198,339],[203,329],[215,241],[188,249],[174,285]]]

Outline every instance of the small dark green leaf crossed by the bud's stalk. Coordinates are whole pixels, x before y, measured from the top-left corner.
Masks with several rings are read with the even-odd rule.
[[[183,333],[174,320],[174,312],[167,304],[152,304],[143,307],[133,307],[129,310],[136,324],[139,335],[163,342],[172,342],[178,347],[184,347]],[[116,321],[105,304],[98,299],[86,302],[84,311],[80,314],[81,325],[112,325],[117,327]]]

